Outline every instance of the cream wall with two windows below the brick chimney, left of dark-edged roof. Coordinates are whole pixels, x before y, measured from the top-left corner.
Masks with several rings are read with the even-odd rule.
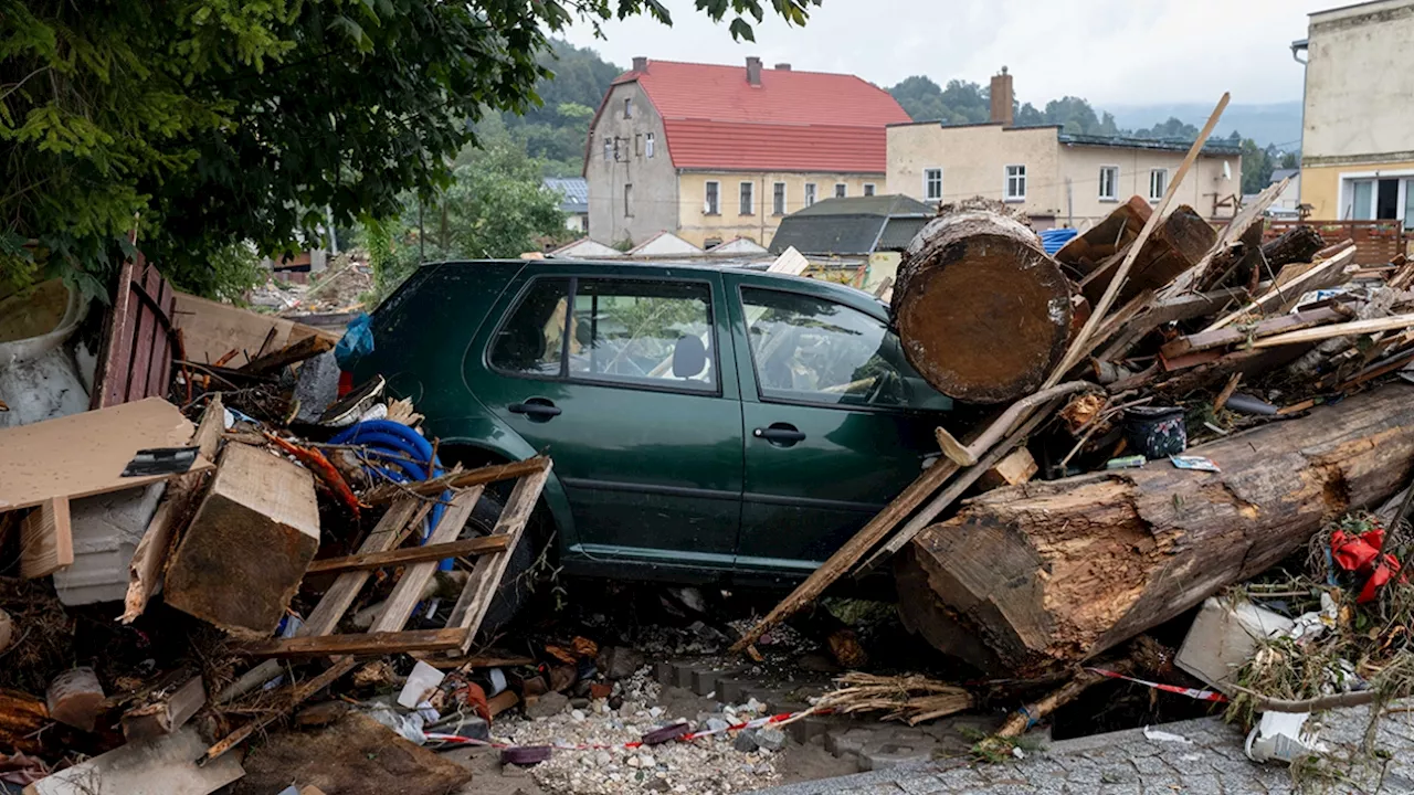
[[[1038,222],[1063,216],[1055,127],[902,124],[888,129],[888,192],[930,201],[923,171],[943,170],[943,204],[986,197],[1003,199],[1007,166],[1027,167],[1027,198],[1012,202]]]

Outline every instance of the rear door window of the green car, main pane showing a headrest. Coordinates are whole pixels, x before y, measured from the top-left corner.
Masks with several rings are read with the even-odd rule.
[[[715,392],[711,317],[701,282],[578,279],[570,378]]]

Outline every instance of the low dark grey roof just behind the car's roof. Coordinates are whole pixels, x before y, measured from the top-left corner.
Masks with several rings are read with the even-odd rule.
[[[905,195],[831,198],[781,219],[772,253],[795,246],[807,255],[867,255],[901,249],[935,215]]]

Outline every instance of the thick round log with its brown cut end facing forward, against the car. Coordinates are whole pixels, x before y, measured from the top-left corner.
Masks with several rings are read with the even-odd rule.
[[[894,286],[904,354],[943,395],[1000,403],[1034,392],[1065,354],[1070,286],[1000,202],[945,207],[904,252]]]

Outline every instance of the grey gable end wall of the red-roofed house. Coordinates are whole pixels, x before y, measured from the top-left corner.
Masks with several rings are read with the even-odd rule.
[[[624,117],[624,100],[632,100],[632,116]],[[655,139],[653,157],[646,153],[646,136]],[[619,156],[604,156],[605,139],[618,139]],[[636,82],[609,89],[604,112],[590,130],[584,177],[590,185],[590,236],[605,245],[625,239],[642,243],[655,232],[673,231],[677,224],[677,173],[667,154],[663,119]],[[631,207],[624,204],[624,185],[633,185]],[[625,214],[628,209],[628,215]]]

